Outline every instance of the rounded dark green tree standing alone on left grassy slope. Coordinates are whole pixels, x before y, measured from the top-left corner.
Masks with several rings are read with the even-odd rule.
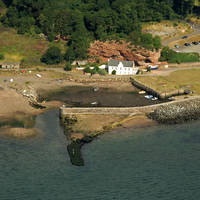
[[[60,63],[62,59],[61,50],[58,47],[50,47],[47,49],[45,54],[43,54],[40,60],[41,62],[52,65]]]

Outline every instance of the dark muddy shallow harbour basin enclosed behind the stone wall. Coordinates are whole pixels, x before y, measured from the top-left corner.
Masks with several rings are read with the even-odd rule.
[[[42,99],[63,101],[66,104],[76,107],[129,107],[144,106],[161,103],[163,101],[146,99],[145,95],[138,94],[133,87],[133,91],[118,91],[111,88],[99,88],[94,91],[93,87],[67,86],[52,93],[39,91]],[[95,105],[92,103],[96,102]]]

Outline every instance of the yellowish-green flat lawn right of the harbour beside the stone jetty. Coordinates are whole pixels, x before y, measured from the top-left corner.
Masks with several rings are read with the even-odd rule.
[[[189,88],[200,94],[200,69],[176,71],[169,76],[137,76],[135,79],[159,92]]]

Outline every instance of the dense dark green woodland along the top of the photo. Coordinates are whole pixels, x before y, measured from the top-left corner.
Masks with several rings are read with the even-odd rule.
[[[195,0],[4,0],[1,21],[18,33],[67,39],[66,60],[84,59],[95,39],[127,39],[160,48],[159,38],[141,33],[141,23],[176,19],[195,10]]]

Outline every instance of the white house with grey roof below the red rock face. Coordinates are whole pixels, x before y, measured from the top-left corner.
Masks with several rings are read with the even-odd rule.
[[[116,75],[134,75],[139,67],[135,67],[134,61],[108,60],[108,73],[116,71]]]

